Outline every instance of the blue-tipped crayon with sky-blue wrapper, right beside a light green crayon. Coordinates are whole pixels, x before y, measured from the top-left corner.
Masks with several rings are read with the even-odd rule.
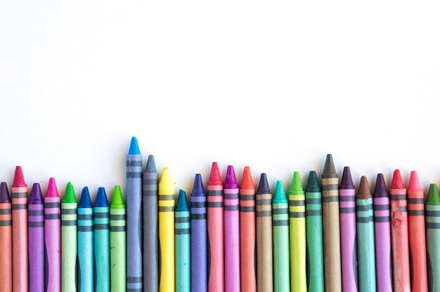
[[[78,291],[93,291],[93,279],[93,206],[84,187],[78,203]]]

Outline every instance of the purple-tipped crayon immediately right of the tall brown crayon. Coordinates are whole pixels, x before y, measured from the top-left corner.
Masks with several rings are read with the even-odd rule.
[[[349,166],[344,167],[339,185],[339,220],[341,224],[342,291],[357,291],[356,190]]]

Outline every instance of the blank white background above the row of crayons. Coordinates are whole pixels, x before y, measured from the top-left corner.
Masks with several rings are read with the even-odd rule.
[[[132,136],[176,192],[332,153],[354,183],[440,183],[438,1],[1,1],[0,180],[124,190]],[[145,165],[145,164],[144,164]]]

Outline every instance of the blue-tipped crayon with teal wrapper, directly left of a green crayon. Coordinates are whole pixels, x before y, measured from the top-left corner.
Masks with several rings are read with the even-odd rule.
[[[110,291],[110,210],[107,194],[98,188],[93,205],[93,251],[95,259],[95,291]]]

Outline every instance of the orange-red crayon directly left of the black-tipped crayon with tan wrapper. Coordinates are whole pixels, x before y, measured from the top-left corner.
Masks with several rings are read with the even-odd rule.
[[[245,166],[239,189],[240,204],[240,283],[242,292],[257,291],[255,263],[255,185],[250,167]]]

